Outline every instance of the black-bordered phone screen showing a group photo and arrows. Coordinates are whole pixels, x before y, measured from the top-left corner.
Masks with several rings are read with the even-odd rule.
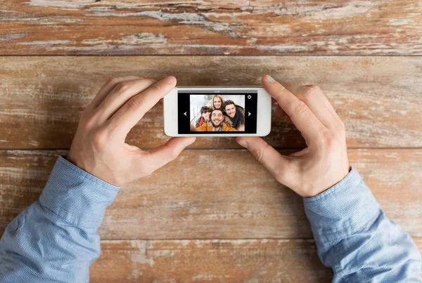
[[[178,91],[179,134],[257,133],[257,91]]]

